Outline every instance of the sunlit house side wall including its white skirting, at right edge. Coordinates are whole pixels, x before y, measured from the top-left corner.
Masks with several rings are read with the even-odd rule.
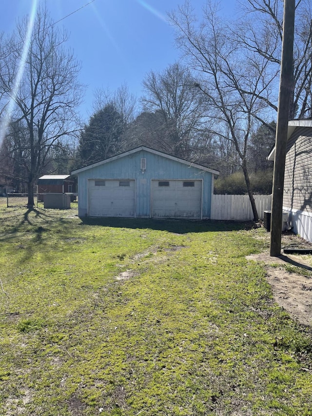
[[[298,127],[288,140],[283,209],[293,231],[312,241],[312,128]]]

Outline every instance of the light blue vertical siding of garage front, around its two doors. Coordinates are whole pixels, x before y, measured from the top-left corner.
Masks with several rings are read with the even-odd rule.
[[[146,158],[146,171],[140,170]],[[78,173],[78,212],[88,212],[88,179],[136,179],[136,216],[150,217],[151,179],[203,179],[203,218],[211,216],[212,173],[141,150]]]

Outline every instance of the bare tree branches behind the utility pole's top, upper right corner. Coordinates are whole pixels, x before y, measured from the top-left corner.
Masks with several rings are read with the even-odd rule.
[[[245,0],[242,17],[234,25],[232,37],[245,53],[263,59],[266,71],[265,95],[258,98],[271,108],[276,116],[281,50],[283,37],[282,0]],[[312,5],[310,0],[297,0],[295,7],[293,48],[293,92],[290,119],[312,117]],[[270,78],[270,79],[269,79]]]

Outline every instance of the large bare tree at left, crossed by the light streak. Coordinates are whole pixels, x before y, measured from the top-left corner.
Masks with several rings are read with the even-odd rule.
[[[11,124],[22,123],[23,140],[15,140],[11,154],[23,153],[28,206],[34,205],[34,184],[53,146],[59,146],[77,129],[76,109],[83,87],[78,83],[80,65],[65,50],[66,32],[55,27],[46,9],[37,10],[29,34],[27,18],[2,43],[0,94],[2,105],[11,101],[6,113]],[[26,49],[25,49],[26,48]],[[26,53],[25,53],[26,50]],[[20,64],[23,76],[17,82]]]

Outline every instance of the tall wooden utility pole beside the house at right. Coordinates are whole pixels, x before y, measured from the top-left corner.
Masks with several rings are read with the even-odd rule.
[[[270,256],[281,254],[282,212],[285,176],[287,131],[290,99],[293,90],[293,32],[295,0],[284,0],[283,43],[281,75],[279,82],[275,156],[273,171],[273,196],[271,214]]]

